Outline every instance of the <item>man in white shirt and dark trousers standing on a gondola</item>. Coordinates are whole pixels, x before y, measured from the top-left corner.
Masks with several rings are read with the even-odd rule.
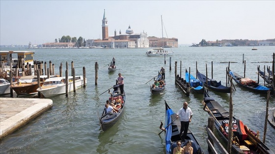
[[[191,122],[192,115],[193,115],[193,112],[188,107],[188,103],[184,102],[183,108],[181,108],[177,113],[177,118],[180,117],[180,122],[181,122],[180,135],[181,135],[181,139],[183,140],[183,142],[185,142],[185,137],[188,132],[188,127],[189,127],[189,123]],[[183,132],[183,134],[182,134],[182,132]]]

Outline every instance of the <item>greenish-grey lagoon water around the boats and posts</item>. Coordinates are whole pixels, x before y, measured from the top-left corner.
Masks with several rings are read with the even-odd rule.
[[[83,74],[86,69],[87,86],[70,92],[69,96],[58,95],[50,97],[53,108],[44,112],[18,131],[0,140],[1,154],[164,154],[165,133],[158,135],[160,122],[165,120],[165,100],[177,112],[184,101],[189,103],[193,111],[190,129],[198,139],[207,154],[208,113],[203,111],[201,101],[203,95],[190,94],[186,97],[175,85],[175,61],[178,74],[182,61],[182,76],[185,68],[191,67],[195,76],[197,62],[198,70],[211,78],[211,62],[213,62],[213,78],[225,85],[226,66],[238,74],[244,73],[243,54],[246,60],[246,77],[257,80],[257,66],[272,67],[272,55],[275,46],[252,47],[188,47],[182,45],[172,48],[171,71],[169,57],[147,57],[148,48],[114,48],[114,49],[25,49],[2,48],[1,50],[35,50],[34,59],[49,61],[55,64],[55,74],[59,73],[59,65],[74,62],[76,75]],[[169,49],[169,48],[167,48]],[[117,70],[109,73],[107,64],[112,57],[116,58]],[[99,64],[98,85],[95,85],[95,62]],[[105,66],[105,67],[104,67]],[[151,95],[149,82],[157,75],[161,67],[165,67],[165,92],[161,95]],[[125,113],[110,130],[102,132],[99,116],[103,111],[108,92],[100,95],[115,84],[118,73],[122,73],[126,92]],[[260,78],[260,83],[263,80]],[[237,91],[233,93],[233,115],[241,119],[253,131],[260,131],[263,138],[266,110],[266,95],[249,92],[234,83]],[[98,96],[100,95],[100,96]],[[229,94],[209,91],[217,102],[229,110]],[[3,97],[3,96],[1,96]],[[8,97],[8,96],[6,96]],[[16,96],[14,96],[16,97]],[[25,97],[35,97],[25,96]],[[270,98],[269,109],[275,109],[275,96]],[[275,152],[275,129],[267,124],[266,145]]]

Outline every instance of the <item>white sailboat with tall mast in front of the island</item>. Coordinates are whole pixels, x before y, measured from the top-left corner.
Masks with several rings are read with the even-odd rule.
[[[162,17],[162,37],[163,37],[163,16],[161,16],[161,17]],[[164,56],[164,55],[171,56],[171,55],[173,55],[173,52],[164,50],[164,37],[163,37],[163,46],[147,50],[146,55],[147,56]]]

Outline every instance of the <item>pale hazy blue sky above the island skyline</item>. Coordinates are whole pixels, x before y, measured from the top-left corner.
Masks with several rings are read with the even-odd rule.
[[[102,39],[106,12],[114,30],[177,38],[275,39],[275,0],[0,0],[0,45],[55,42],[62,36]]]

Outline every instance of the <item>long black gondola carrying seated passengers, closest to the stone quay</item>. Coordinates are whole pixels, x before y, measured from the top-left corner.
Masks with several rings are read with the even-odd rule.
[[[125,95],[125,90],[123,92],[123,95],[120,94],[120,90],[118,90],[119,85],[116,83],[116,85],[113,87],[113,92],[111,93],[111,95],[116,98],[116,97],[120,97],[122,100],[122,106],[121,108],[118,110],[117,113],[113,113],[113,112],[106,112],[106,109],[103,110],[101,117],[99,118],[100,121],[100,126],[101,126],[101,130],[102,131],[106,131],[108,130],[111,126],[113,126],[122,116],[123,112],[124,112],[124,108],[126,105],[126,95]],[[110,99],[110,98],[109,98]]]

